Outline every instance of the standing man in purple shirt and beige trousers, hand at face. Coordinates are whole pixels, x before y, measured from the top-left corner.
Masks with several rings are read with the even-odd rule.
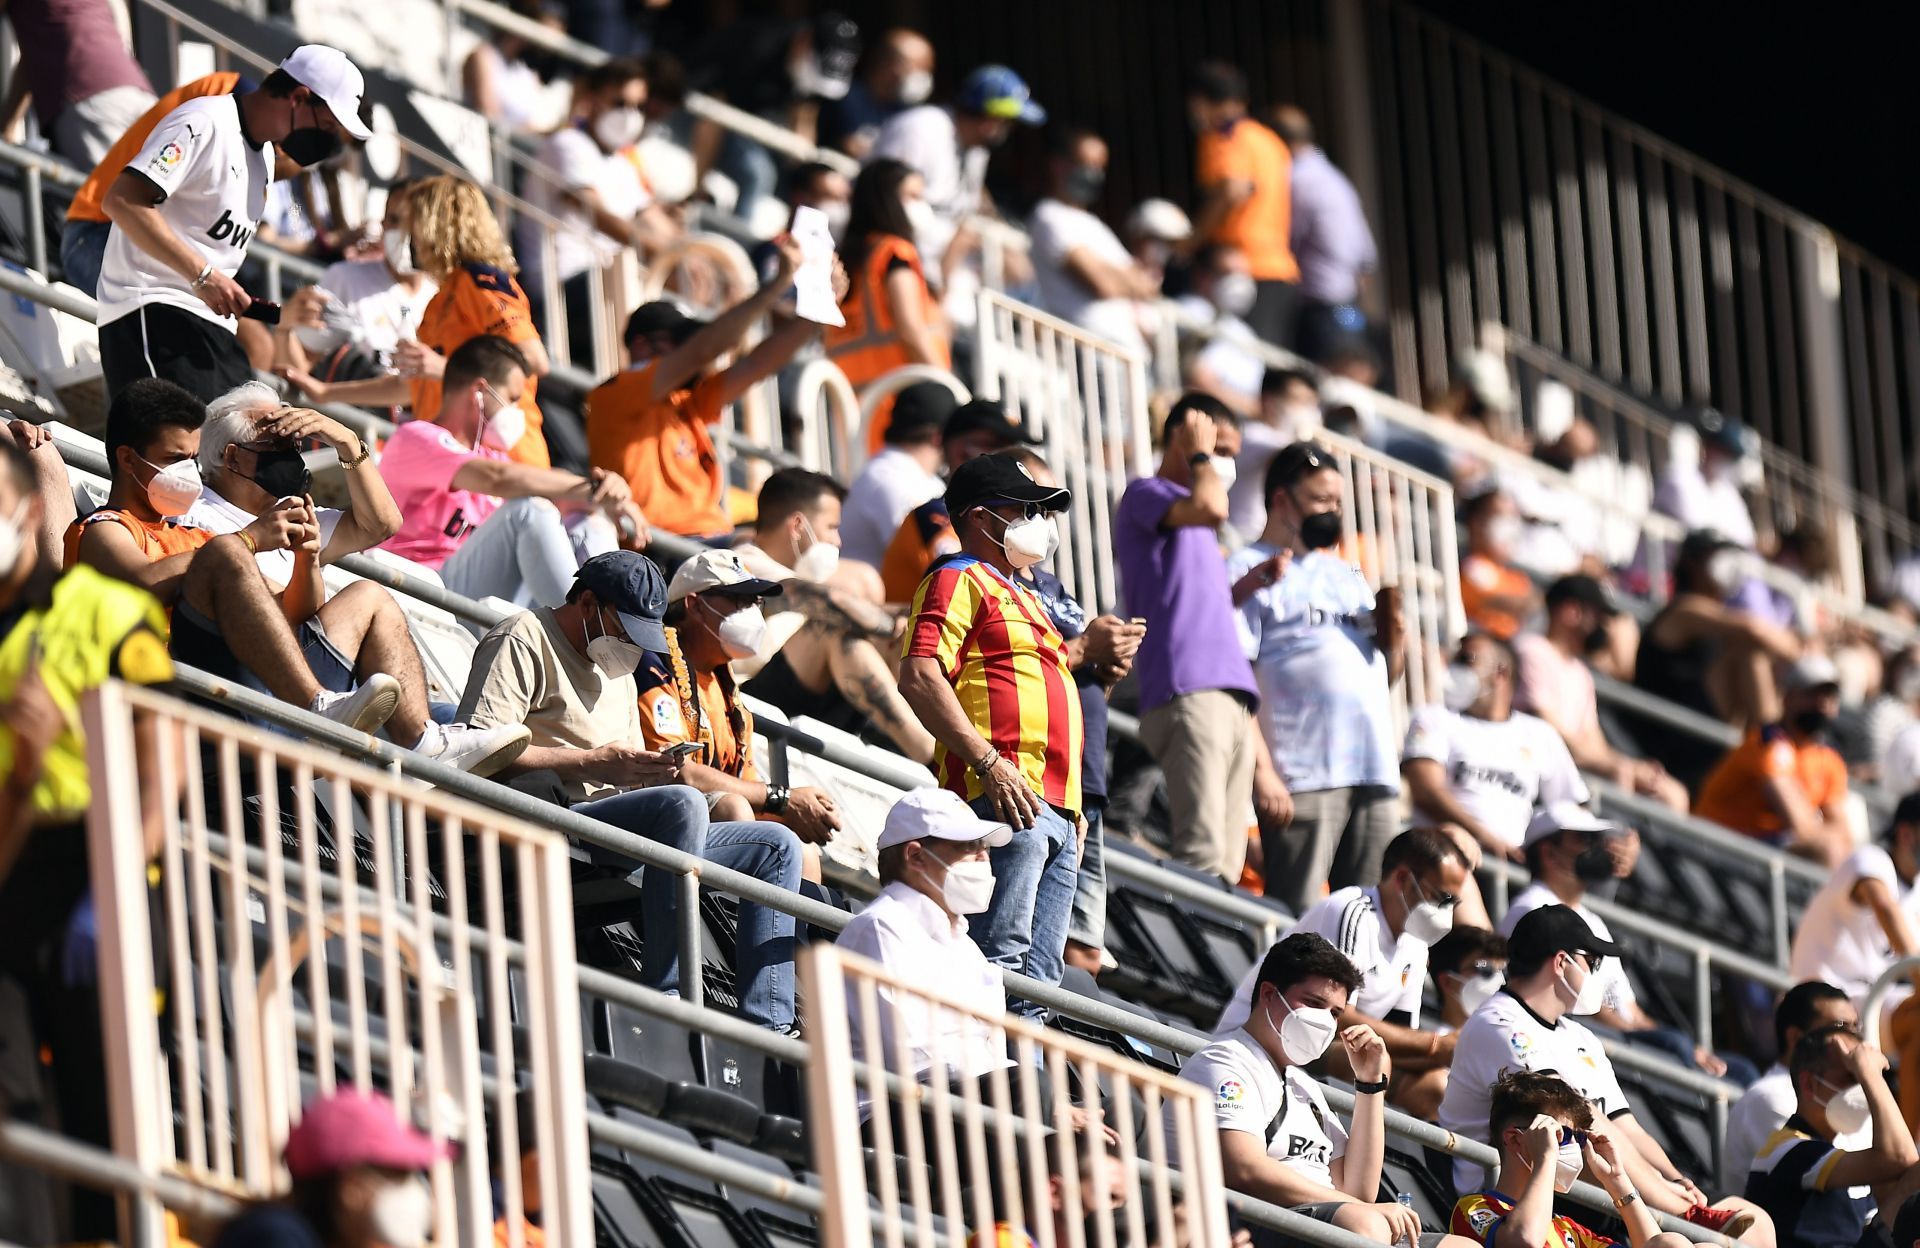
[[[1215,445],[1221,426],[1238,426],[1225,403],[1192,392],[1179,397],[1160,472],[1119,499],[1114,555],[1127,611],[1146,620],[1140,737],[1167,774],[1173,856],[1238,881],[1263,745],[1248,714],[1258,687],[1219,551],[1233,480],[1233,459]]]

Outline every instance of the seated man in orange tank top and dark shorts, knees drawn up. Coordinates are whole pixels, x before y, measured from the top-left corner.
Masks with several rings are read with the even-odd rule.
[[[292,413],[298,420],[307,417],[319,419]],[[326,597],[319,572],[321,522],[305,480],[280,482],[301,492],[278,501],[242,482],[253,490],[248,503],[271,503],[244,526],[230,524],[230,516],[223,518],[227,532],[180,522],[202,499],[196,457],[205,419],[205,405],[167,380],[142,378],[115,396],[108,411],[113,470],[108,503],[67,530],[67,563],[132,582],[169,607],[171,651],[180,662],[359,732],[386,726],[396,743],[447,766],[488,774],[518,753],[526,739],[511,728],[470,733],[430,720],[420,653],[407,634],[407,616],[386,589],[357,582]],[[340,434],[336,449],[365,459],[367,447],[346,430]],[[259,470],[252,453],[242,457]],[[234,478],[225,480],[236,490]],[[263,553],[290,555],[280,568],[290,576],[284,588],[267,582],[257,563]]]

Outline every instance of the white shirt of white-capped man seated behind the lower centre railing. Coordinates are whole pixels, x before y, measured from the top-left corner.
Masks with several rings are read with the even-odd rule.
[[[943,996],[956,998],[981,1014],[1006,1014],[1006,989],[1000,987],[1000,972],[987,962],[979,945],[968,939],[966,931],[964,918],[947,918],[947,912],[933,904],[925,893],[895,881],[881,889],[866,910],[852,916],[833,945],[879,962],[904,979],[925,983]],[[914,1060],[914,1079],[925,1081],[927,1071],[933,1069],[935,1039],[954,1077],[972,1079],[1012,1066],[1006,1048],[995,1043],[987,1023],[972,1016],[929,1010],[922,1002],[902,1004],[887,987],[876,989],[876,1000],[879,1004],[879,1044],[891,1058],[895,1027],[902,1029]],[[847,1021],[852,1029],[852,1056],[864,1060],[866,1021],[860,998],[852,989],[847,993]],[[870,1112],[866,1083],[860,1085],[858,1096],[864,1119]]]

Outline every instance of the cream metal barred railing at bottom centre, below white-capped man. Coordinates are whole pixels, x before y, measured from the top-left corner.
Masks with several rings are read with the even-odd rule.
[[[954,1229],[1002,1221],[1025,1227],[1039,1248],[1116,1248],[1116,1227],[1102,1223],[1096,1242],[1089,1242],[1077,1215],[1062,1219],[1062,1242],[1046,1194],[1058,1181],[1062,1206],[1079,1213],[1085,1208],[1081,1188],[1104,1196],[1117,1167],[1121,1192],[1114,1204],[1125,1212],[1125,1242],[1146,1244],[1144,1215],[1156,1215],[1162,1233],[1175,1227],[1169,1169],[1200,1192],[1225,1188],[1212,1089],[1010,1018],[1004,1008],[985,1012],[939,987],[908,983],[897,970],[831,945],[810,947],[799,960],[799,973],[814,1002],[806,1089],[814,1169],[826,1190],[820,1225],[826,1242],[870,1246],[868,1200],[877,1198],[883,1210],[904,1204],[914,1212],[910,1227],[885,1235],[889,1248],[902,1242],[931,1248],[935,1213]],[[916,1035],[927,1041],[925,1071],[912,1050]],[[995,1062],[1008,1050],[1016,1054],[1012,1068]],[[854,1058],[866,1060],[864,1081],[852,1071]],[[948,1089],[948,1069],[956,1075],[954,1089]],[[899,1098],[883,1071],[908,1079]],[[1079,1087],[1098,1087],[1112,1108],[1110,1125],[1119,1137],[1114,1152],[1096,1125],[1068,1125],[1077,1098],[1069,1092],[1069,1071]],[[914,1083],[922,1075],[927,1087]],[[1144,1123],[1135,1123],[1135,1096],[1144,1108]],[[989,1106],[991,1125],[983,1116]],[[1156,1129],[1162,1114],[1165,1133]],[[904,1152],[906,1190],[893,1165],[877,1165],[877,1185],[870,1181],[862,1123],[872,1127],[879,1156]],[[1144,1158],[1135,1146],[1137,1127],[1144,1127]],[[895,1140],[895,1131],[902,1139]],[[1140,1162],[1148,1164],[1144,1171]],[[1225,1248],[1225,1204],[1188,1200],[1181,1221],[1196,1248]]]

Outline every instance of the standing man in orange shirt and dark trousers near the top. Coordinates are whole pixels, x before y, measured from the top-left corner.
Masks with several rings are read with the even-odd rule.
[[[1200,211],[1188,246],[1238,248],[1256,290],[1246,323],[1273,346],[1290,346],[1300,265],[1288,244],[1294,161],[1286,144],[1246,115],[1246,75],[1223,61],[1208,61],[1194,73],[1187,113],[1200,132],[1194,157]]]

